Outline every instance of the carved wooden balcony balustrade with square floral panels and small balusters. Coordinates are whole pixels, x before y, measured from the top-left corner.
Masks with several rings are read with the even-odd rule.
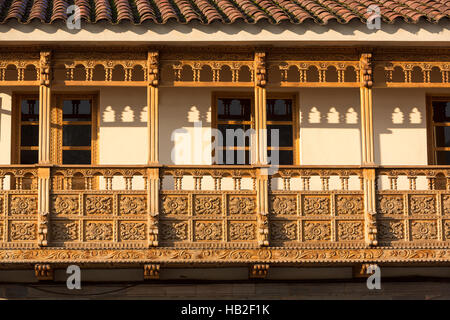
[[[450,262],[449,167],[266,170],[1,166],[0,261]]]

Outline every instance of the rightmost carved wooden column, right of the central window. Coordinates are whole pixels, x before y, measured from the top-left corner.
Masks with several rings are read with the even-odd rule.
[[[373,110],[372,110],[372,54],[363,53],[360,57],[360,96],[361,96],[361,150],[364,186],[365,239],[370,246],[377,245],[376,224],[376,171],[373,167]],[[367,168],[369,167],[369,168]]]

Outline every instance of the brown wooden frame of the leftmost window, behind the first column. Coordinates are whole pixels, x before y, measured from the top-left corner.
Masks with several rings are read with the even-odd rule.
[[[12,139],[11,139],[11,163],[20,164],[20,151],[28,150],[33,147],[21,146],[21,101],[24,99],[37,99],[39,100],[38,93],[13,93],[13,110],[12,110]],[[62,115],[62,100],[75,99],[75,100],[91,100],[91,113],[92,119],[91,125],[91,165],[98,164],[98,128],[99,115],[98,115],[98,93],[97,92],[54,92],[50,99],[50,160],[53,164],[62,165],[62,151],[64,150],[82,150],[80,147],[63,146],[62,131],[63,131],[63,115]],[[40,116],[40,115],[39,115]],[[79,124],[82,124],[80,121]],[[38,122],[39,125],[39,122]],[[34,150],[34,149],[33,149]],[[39,150],[39,146],[38,149]],[[84,149],[83,149],[84,150]],[[76,164],[74,164],[76,165]],[[70,165],[69,165],[70,166]]]

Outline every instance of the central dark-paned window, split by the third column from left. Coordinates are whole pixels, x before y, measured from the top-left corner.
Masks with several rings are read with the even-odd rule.
[[[295,101],[295,95],[286,94],[272,94],[266,99],[267,147],[271,163],[275,161],[280,165],[298,163]],[[249,129],[254,128],[253,106],[254,100],[251,95],[231,93],[215,95],[213,128],[217,128],[222,137],[221,139],[213,137],[215,150],[219,153],[213,154],[215,163],[251,163]]]

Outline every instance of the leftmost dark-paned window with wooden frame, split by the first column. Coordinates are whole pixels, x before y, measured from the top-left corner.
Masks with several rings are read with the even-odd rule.
[[[38,162],[39,152],[39,99],[38,96],[19,96],[18,101],[21,113],[16,137],[20,144],[15,161],[34,164]],[[95,96],[54,95],[51,109],[52,162],[95,163]]]

